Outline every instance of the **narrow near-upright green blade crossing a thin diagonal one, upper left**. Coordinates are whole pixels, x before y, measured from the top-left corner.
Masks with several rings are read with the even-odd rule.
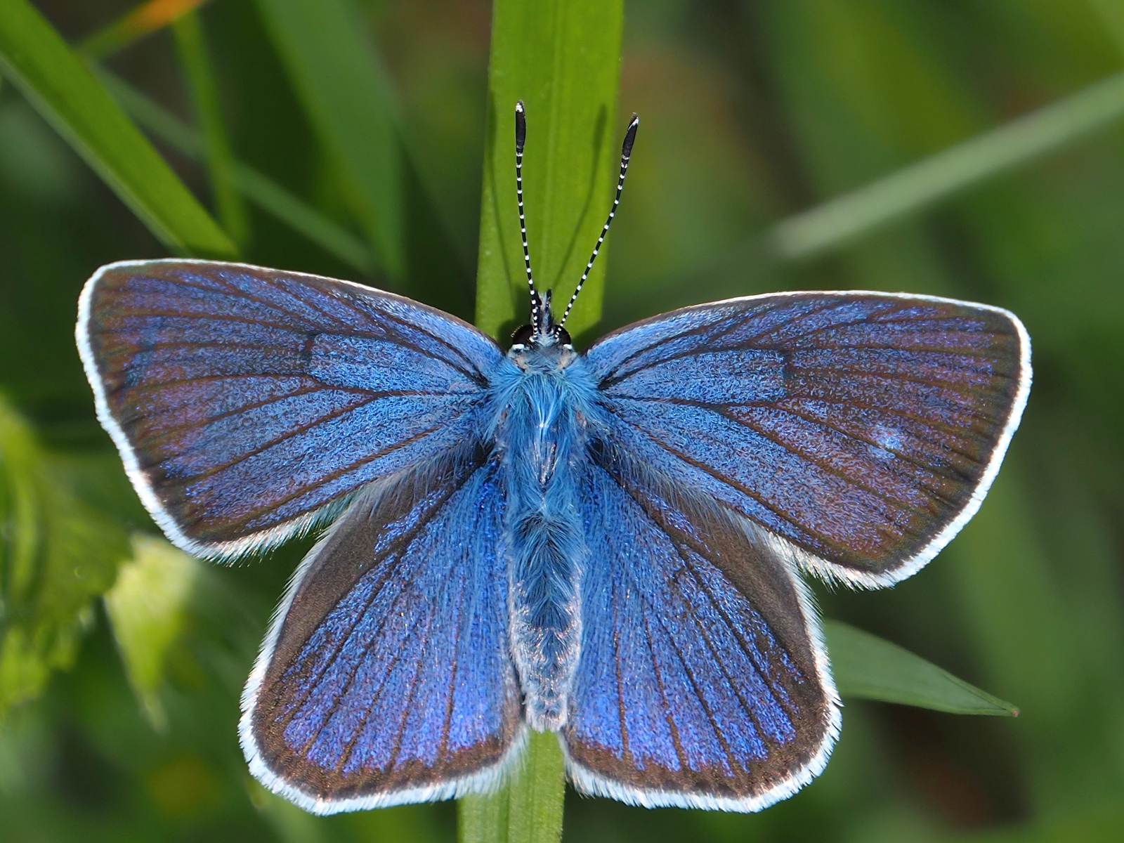
[[[189,11],[172,24],[180,65],[187,79],[191,103],[203,136],[207,173],[219,221],[230,238],[239,245],[250,239],[250,219],[234,183],[234,155],[223,119],[218,84],[199,13]]]

